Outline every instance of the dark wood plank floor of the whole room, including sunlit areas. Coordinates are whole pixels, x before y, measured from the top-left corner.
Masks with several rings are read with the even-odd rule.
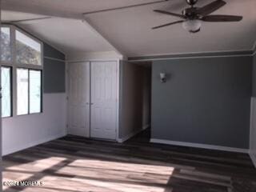
[[[148,130],[123,144],[67,136],[7,155],[3,166],[4,182],[43,182],[6,192],[256,191],[247,154],[152,144]]]

